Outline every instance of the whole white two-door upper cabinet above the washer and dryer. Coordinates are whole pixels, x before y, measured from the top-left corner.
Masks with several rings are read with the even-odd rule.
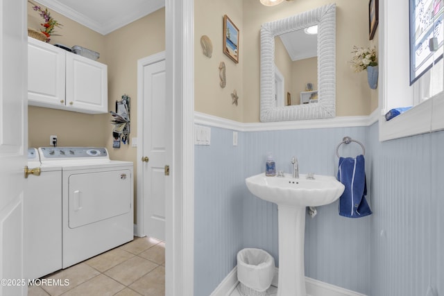
[[[108,112],[108,67],[28,37],[28,104]]]

